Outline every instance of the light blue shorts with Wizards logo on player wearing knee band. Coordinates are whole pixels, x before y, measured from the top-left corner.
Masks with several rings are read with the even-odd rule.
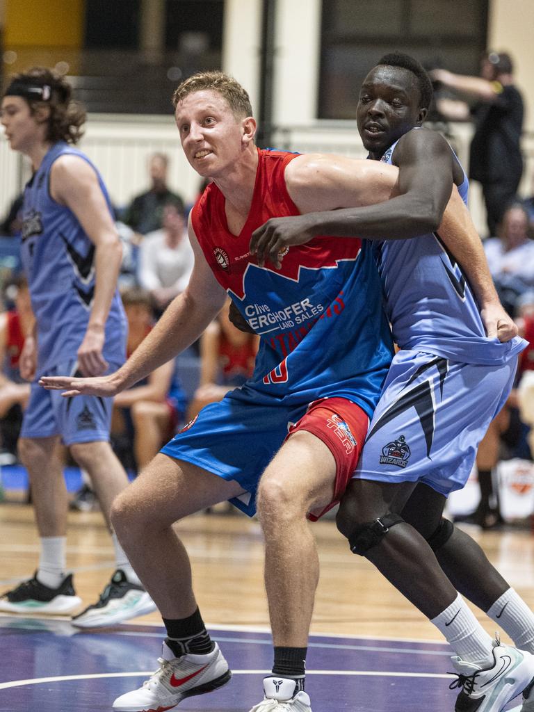
[[[513,386],[517,359],[482,366],[399,351],[389,368],[354,477],[464,487],[476,450]]]

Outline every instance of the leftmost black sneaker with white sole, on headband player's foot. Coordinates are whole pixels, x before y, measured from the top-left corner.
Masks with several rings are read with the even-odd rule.
[[[71,613],[82,602],[73,587],[73,575],[66,576],[57,588],[45,586],[37,578],[23,581],[0,597],[0,611],[8,613]]]

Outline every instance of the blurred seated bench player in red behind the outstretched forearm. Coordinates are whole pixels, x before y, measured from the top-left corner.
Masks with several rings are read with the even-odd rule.
[[[139,289],[122,295],[128,320],[127,355],[130,356],[152,329],[150,295]],[[112,439],[135,454],[142,469],[174,434],[183,418],[185,398],[176,378],[174,361],[157,368],[147,378],[115,396]],[[117,453],[120,454],[120,453]]]

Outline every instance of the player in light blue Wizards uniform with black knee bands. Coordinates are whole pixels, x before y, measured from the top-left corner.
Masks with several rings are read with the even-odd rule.
[[[524,342],[508,340],[513,331],[506,315],[499,316],[498,303],[493,300],[492,305],[491,294],[476,302],[469,278],[475,286],[478,281],[478,294],[484,281],[492,289],[491,278],[480,282],[480,276],[468,273],[466,280],[459,263],[468,268],[473,264],[461,255],[461,244],[455,259],[435,232],[451,187],[456,184],[466,200],[468,182],[444,138],[421,127],[430,99],[431,83],[419,62],[402,54],[384,56],[362,85],[357,120],[369,157],[399,167],[399,197],[361,209],[274,220],[256,232],[252,246],[263,258],[324,231],[378,239],[387,313],[401,350],[342,501],[338,526],[352,550],[375,562],[410,597],[406,577],[399,585],[407,563],[404,518],[429,540],[456,589],[488,612],[518,648],[534,653],[530,609],[481,548],[441,518],[446,496],[464,486],[478,441],[508,397]],[[403,241],[413,229],[426,234]],[[496,309],[489,320],[488,309]],[[407,506],[395,508],[396,493],[414,483]],[[386,535],[387,527],[380,529],[374,522],[384,523],[390,512],[398,511],[402,517],[392,520]],[[419,601],[419,607],[448,639],[467,639],[471,614],[452,589],[450,597],[444,610],[434,607],[431,598]],[[515,669],[502,664],[508,659]],[[456,709],[501,710],[530,682],[525,660],[507,647],[492,649],[487,636],[475,644],[470,640],[454,659],[465,683]],[[533,710],[534,702],[525,701],[523,712]]]

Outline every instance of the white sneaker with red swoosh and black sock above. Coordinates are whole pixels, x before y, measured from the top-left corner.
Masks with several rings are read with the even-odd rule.
[[[231,671],[219,646],[207,655],[183,655],[175,658],[163,643],[159,669],[137,690],[117,697],[115,712],[165,712],[186,697],[211,692],[226,684]]]

